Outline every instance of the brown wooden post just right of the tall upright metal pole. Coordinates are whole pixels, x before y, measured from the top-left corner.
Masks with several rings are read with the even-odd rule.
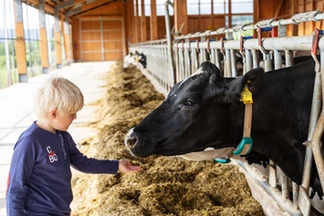
[[[181,35],[188,34],[187,0],[174,1],[174,27],[175,32]],[[179,32],[181,31],[181,32]]]

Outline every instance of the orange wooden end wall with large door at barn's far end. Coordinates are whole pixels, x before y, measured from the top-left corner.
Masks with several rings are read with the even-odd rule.
[[[126,53],[121,1],[86,11],[72,19],[76,61],[121,60]]]

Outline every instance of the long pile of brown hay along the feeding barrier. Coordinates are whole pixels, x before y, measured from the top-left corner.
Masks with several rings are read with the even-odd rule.
[[[107,94],[96,104],[98,121],[89,124],[99,134],[80,150],[98,159],[130,159],[142,170],[115,176],[76,173],[72,215],[264,215],[244,175],[232,165],[131,157],[123,144],[126,132],[164,97],[136,67],[123,71],[118,62],[106,78]]]

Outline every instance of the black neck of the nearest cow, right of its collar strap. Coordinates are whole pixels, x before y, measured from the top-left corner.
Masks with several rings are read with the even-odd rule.
[[[312,69],[299,74],[298,70],[266,73],[265,86],[253,104],[253,150],[275,161],[297,183],[303,170],[305,146],[302,143],[308,134],[314,85],[310,73],[315,73]],[[239,133],[243,133],[244,118],[240,119]]]

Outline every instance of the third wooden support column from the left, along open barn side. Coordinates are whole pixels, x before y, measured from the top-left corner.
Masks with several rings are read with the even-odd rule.
[[[61,32],[59,27],[59,11],[57,7],[55,8],[55,15],[54,15],[54,38],[55,38],[57,68],[62,68]]]

